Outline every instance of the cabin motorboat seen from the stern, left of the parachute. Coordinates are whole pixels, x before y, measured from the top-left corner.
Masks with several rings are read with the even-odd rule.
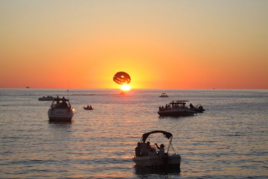
[[[51,122],[70,122],[75,114],[68,99],[55,98],[47,111],[48,119]]]

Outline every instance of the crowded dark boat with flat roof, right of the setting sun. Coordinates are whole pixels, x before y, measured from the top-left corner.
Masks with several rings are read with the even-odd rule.
[[[191,116],[197,114],[196,111],[190,110],[185,107],[186,101],[171,101],[166,104],[165,107],[159,106],[159,111],[157,112],[160,116]]]

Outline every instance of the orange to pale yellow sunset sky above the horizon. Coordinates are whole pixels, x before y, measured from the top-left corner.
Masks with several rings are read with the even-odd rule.
[[[268,88],[268,1],[0,1],[0,87]]]

